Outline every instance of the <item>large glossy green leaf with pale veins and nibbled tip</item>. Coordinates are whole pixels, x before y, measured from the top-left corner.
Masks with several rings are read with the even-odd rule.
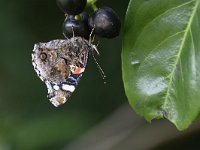
[[[179,130],[200,112],[200,0],[130,0],[122,70],[131,106]]]

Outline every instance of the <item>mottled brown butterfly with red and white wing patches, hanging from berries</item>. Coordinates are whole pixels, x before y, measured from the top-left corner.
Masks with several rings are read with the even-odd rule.
[[[85,71],[88,55],[94,52],[98,54],[96,46],[82,37],[34,45],[34,70],[46,84],[47,97],[55,107],[64,104],[74,92]]]

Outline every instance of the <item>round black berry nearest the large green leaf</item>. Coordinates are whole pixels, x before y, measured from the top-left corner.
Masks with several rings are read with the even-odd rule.
[[[114,38],[119,35],[121,22],[114,10],[102,7],[96,10],[88,19],[90,29],[94,33],[105,38]]]

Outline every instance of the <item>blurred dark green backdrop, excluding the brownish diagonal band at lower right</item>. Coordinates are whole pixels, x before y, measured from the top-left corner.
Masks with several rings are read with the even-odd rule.
[[[101,0],[125,16],[128,0]],[[61,149],[126,101],[121,79],[121,36],[99,40],[104,85],[93,60],[69,101],[59,108],[31,64],[34,43],[61,39],[64,15],[55,0],[0,1],[0,150]]]

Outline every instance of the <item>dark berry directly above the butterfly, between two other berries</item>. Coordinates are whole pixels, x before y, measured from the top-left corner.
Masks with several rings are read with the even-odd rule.
[[[63,23],[63,34],[65,37],[71,38],[74,36],[81,36],[86,39],[89,38],[89,27],[87,22],[83,20],[76,20],[73,17],[68,17]]]

